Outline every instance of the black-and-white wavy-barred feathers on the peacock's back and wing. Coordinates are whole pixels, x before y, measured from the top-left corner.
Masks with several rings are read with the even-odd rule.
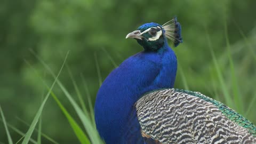
[[[232,114],[251,127],[232,121],[219,105],[201,93],[177,89],[155,91],[135,103],[142,136],[162,144],[256,143],[255,126],[237,113]]]

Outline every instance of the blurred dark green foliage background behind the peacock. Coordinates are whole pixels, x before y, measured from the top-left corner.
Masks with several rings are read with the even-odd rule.
[[[86,101],[88,95],[81,75],[85,77],[94,102],[100,84],[95,59],[104,79],[115,65],[143,50],[133,39],[125,39],[126,34],[143,23],[163,24],[177,16],[182,25],[183,43],[173,48],[179,63],[175,87],[199,91],[226,104],[225,93],[237,94],[241,97],[239,106],[230,107],[255,124],[256,105],[251,104],[256,99],[255,5],[253,0],[1,0],[0,105],[6,121],[26,132],[28,126],[18,118],[30,124],[41,105],[42,95],[47,90],[33,68],[49,85],[54,80],[30,50],[35,51],[55,73],[70,51],[67,65]],[[223,79],[214,66],[210,47]],[[230,66],[234,66],[234,71]],[[60,81],[77,99],[67,68],[63,69]],[[234,89],[236,86],[238,89]],[[77,119],[57,85],[53,91]],[[79,142],[51,97],[42,117],[42,131],[55,141]],[[10,132],[14,142],[21,138],[12,130]],[[2,122],[0,142],[7,143]],[[43,139],[43,143],[50,142]]]

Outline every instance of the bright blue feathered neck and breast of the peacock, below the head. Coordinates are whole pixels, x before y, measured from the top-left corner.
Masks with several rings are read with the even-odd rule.
[[[102,83],[95,101],[95,123],[106,143],[143,143],[133,108],[145,93],[171,88],[177,58],[165,44],[158,51],[142,51],[126,59]]]

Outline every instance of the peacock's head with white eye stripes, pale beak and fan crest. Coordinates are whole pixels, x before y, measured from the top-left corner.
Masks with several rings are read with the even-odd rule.
[[[178,46],[179,43],[183,42],[181,26],[180,23],[177,22],[176,17],[166,22],[163,26],[155,22],[145,23],[137,30],[129,33],[126,38],[137,39],[137,42],[143,46],[146,51],[157,51],[167,43],[167,38],[174,42],[174,46]]]

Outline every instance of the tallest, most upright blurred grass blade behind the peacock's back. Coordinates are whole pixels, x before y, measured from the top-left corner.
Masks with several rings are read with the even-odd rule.
[[[233,94],[234,94],[233,98],[234,98],[234,102],[235,102],[235,105],[236,105],[236,108],[237,108],[236,110],[238,111],[238,113],[243,114],[243,99],[242,99],[241,94],[239,92],[237,77],[236,77],[236,74],[235,74],[234,62],[233,62],[233,58],[232,58],[231,51],[230,51],[230,43],[229,43],[229,38],[228,38],[227,22],[225,22],[225,37],[226,37],[226,44],[227,44],[227,51],[228,51],[228,59],[229,59],[229,64],[230,64],[232,90],[233,90]]]

